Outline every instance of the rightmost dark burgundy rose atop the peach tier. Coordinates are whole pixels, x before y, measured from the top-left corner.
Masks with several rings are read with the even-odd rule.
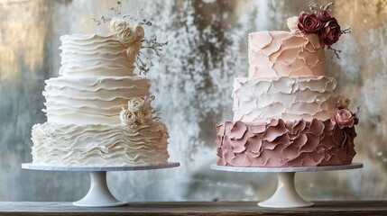
[[[340,38],[341,33],[340,25],[333,17],[327,23],[324,23],[321,31],[319,31],[319,36],[325,45],[332,46]]]

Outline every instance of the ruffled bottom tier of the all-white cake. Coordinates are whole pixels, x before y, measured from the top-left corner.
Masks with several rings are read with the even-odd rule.
[[[56,124],[32,127],[32,163],[49,166],[165,164],[168,130],[160,121],[128,127]]]

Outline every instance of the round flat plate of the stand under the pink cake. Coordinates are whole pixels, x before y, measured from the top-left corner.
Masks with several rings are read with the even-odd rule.
[[[251,172],[251,173],[294,173],[294,172],[319,172],[356,169],[363,167],[361,163],[352,163],[342,166],[297,166],[297,167],[241,167],[241,166],[217,166],[211,165],[211,169],[228,172]]]

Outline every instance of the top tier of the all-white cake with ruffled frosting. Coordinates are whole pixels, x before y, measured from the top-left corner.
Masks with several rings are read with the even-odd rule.
[[[134,32],[135,33],[135,32]],[[72,34],[60,37],[62,76],[133,76],[134,58],[116,34]],[[129,46],[137,53],[141,45]]]

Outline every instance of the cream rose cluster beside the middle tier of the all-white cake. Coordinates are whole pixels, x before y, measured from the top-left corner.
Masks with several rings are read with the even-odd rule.
[[[133,97],[128,101],[128,108],[122,108],[120,119],[123,125],[138,126],[152,121],[151,101],[153,96]]]

